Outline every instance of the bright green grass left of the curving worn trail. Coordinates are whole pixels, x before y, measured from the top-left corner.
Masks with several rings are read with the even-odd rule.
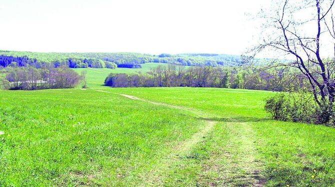
[[[1,186],[125,184],[203,125],[176,109],[93,90],[0,95]]]

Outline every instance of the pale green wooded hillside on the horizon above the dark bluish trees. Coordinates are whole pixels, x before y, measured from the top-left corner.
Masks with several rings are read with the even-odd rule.
[[[236,66],[241,64],[241,57],[228,54],[205,54],[205,53],[184,53],[151,55],[143,53],[119,52],[86,52],[86,53],[66,53],[66,52],[25,52],[25,51],[5,51],[0,50],[0,55],[6,56],[27,56],[39,63],[68,63],[70,67],[85,67],[84,59],[102,60],[98,63],[113,62],[116,64],[140,64],[148,62],[174,63],[180,65],[209,65],[209,66]],[[71,60],[69,60],[71,59]],[[256,59],[255,64],[261,64],[265,59]],[[71,64],[72,63],[72,64]],[[1,61],[0,61],[1,65]],[[2,64],[2,66],[5,66]],[[86,66],[89,66],[86,65]],[[94,67],[105,67],[106,65],[96,65]]]

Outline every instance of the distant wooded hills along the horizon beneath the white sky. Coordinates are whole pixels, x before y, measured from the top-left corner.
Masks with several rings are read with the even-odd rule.
[[[266,59],[255,59],[254,64],[264,64]],[[236,66],[242,63],[238,55],[207,54],[207,53],[183,53],[159,55],[142,53],[57,53],[57,52],[23,52],[0,50],[0,66],[25,66],[31,65],[40,68],[45,64],[53,64],[55,67],[66,65],[70,68],[93,67],[115,68],[129,67],[140,68],[141,63],[172,63],[189,66]]]

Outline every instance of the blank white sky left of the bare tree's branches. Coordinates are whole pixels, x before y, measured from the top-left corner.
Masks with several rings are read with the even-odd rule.
[[[0,49],[241,54],[268,0],[0,0]]]

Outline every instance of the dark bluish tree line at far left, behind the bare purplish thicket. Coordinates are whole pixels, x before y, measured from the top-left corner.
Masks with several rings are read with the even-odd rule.
[[[29,58],[28,56],[7,56],[0,55],[0,66],[2,67],[22,67],[22,66],[34,66],[36,68],[41,68],[52,64],[54,67],[66,65],[70,68],[79,67],[93,67],[93,68],[116,68],[116,64],[110,61],[104,61],[101,59],[94,58],[64,58],[57,59],[51,62],[45,62],[37,60],[36,58]]]

